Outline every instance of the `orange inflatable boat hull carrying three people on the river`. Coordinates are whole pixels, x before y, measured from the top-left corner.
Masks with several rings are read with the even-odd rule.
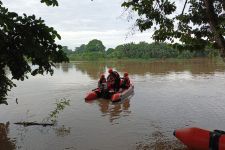
[[[122,89],[116,93],[109,92],[107,99],[111,99],[112,102],[120,101],[120,100],[123,100],[123,99],[131,96],[133,94],[133,92],[134,92],[134,85],[131,84],[128,89]],[[91,100],[95,100],[97,98],[101,98],[101,90],[99,88],[96,88],[96,89],[92,90],[91,92],[87,93],[85,100],[91,101]],[[106,97],[103,97],[103,98],[106,98]]]

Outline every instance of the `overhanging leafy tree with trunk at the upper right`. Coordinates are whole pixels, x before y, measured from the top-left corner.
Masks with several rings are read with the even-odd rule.
[[[203,49],[212,45],[225,57],[224,0],[128,0],[122,7],[137,12],[140,31],[153,28],[156,41],[179,40],[188,49]]]

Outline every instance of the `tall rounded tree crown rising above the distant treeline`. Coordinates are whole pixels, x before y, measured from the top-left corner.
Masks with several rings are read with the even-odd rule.
[[[86,45],[86,50],[87,51],[93,51],[93,52],[105,52],[105,46],[103,45],[102,41],[94,39],[91,40],[87,45]]]

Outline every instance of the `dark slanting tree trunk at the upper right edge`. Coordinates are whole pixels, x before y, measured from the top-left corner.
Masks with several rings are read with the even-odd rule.
[[[208,16],[208,21],[210,25],[210,29],[214,34],[214,40],[218,44],[221,49],[221,56],[225,58],[225,40],[220,33],[220,26],[218,24],[218,16],[214,11],[213,1],[212,0],[204,0],[206,7],[206,14]],[[224,3],[223,3],[224,6]]]

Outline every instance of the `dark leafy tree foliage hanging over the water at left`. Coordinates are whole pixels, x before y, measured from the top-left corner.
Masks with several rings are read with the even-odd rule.
[[[56,0],[41,0],[48,6],[58,6]],[[62,46],[55,43],[60,35],[35,15],[9,12],[0,1],[0,103],[15,86],[12,79],[24,80],[27,74],[53,74],[54,63],[68,61]],[[31,65],[38,68],[32,70]],[[6,68],[12,79],[6,75]]]

